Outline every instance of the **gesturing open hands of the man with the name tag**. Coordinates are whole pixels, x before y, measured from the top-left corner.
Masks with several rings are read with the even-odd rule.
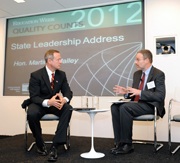
[[[140,95],[141,93],[141,90],[139,89],[135,89],[135,88],[132,88],[132,87],[122,87],[122,86],[119,86],[119,85],[115,85],[113,87],[113,91],[118,95],[118,94],[130,94],[130,97],[132,96],[135,96],[135,95]]]

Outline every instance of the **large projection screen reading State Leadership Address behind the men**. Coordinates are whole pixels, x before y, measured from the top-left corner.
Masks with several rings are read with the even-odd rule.
[[[114,96],[115,84],[131,86],[143,11],[133,1],[7,19],[3,95],[29,95],[30,73],[49,49],[60,51],[74,96]]]

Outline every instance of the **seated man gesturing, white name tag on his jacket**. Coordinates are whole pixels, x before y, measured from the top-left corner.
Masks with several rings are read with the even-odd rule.
[[[133,75],[132,87],[114,86],[116,94],[129,96],[131,101],[122,104],[112,104],[111,114],[114,130],[115,148],[111,153],[126,154],[134,150],[132,144],[133,117],[144,114],[154,114],[154,107],[157,107],[158,115],[165,114],[165,74],[152,66],[153,56],[149,50],[140,50],[136,54],[135,65],[138,69]],[[142,89],[142,74],[145,73]]]

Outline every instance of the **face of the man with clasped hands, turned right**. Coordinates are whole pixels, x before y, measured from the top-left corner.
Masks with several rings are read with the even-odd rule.
[[[54,53],[54,59],[50,60],[51,68],[55,70],[59,70],[62,64],[61,54],[60,53]]]

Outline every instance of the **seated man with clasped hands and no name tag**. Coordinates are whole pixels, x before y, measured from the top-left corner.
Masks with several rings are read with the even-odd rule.
[[[31,104],[28,107],[27,118],[30,129],[36,140],[37,152],[47,155],[41,132],[40,119],[51,113],[59,117],[59,123],[48,161],[57,160],[57,147],[66,142],[67,127],[72,114],[72,91],[67,82],[65,72],[60,70],[62,64],[61,54],[57,50],[48,50],[44,59],[45,67],[31,73],[29,93]],[[54,77],[52,78],[52,73]],[[61,93],[61,95],[60,95]]]

